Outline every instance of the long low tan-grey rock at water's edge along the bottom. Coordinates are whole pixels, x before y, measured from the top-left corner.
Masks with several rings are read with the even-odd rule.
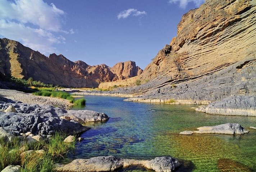
[[[68,164],[56,164],[56,171],[59,172],[102,172],[114,171],[120,167],[143,166],[153,169],[156,172],[172,172],[181,164],[172,157],[156,157],[151,161],[122,159],[114,156],[94,157],[90,159],[75,159]]]

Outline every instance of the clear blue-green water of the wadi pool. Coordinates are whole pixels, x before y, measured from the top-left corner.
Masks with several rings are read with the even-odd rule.
[[[177,133],[201,126],[239,123],[256,126],[256,117],[219,116],[196,112],[196,105],[125,102],[124,98],[85,96],[88,109],[104,112],[106,122],[88,123],[83,141],[70,159],[113,155],[119,158],[152,159],[172,156],[183,163],[177,172],[256,171],[256,130],[242,136]],[[148,110],[154,109],[154,110]],[[139,170],[140,171],[140,170]]]

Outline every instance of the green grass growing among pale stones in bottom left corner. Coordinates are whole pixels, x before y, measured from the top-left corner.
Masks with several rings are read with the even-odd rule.
[[[18,139],[10,143],[0,140],[0,171],[13,164],[20,165],[22,172],[54,172],[54,164],[58,163],[60,158],[65,156],[69,149],[74,149],[75,141],[64,143],[65,135],[55,133],[49,140],[49,143],[39,142],[35,144],[20,143]],[[23,149],[23,151],[22,151]],[[44,149],[45,153],[23,154],[28,150]]]

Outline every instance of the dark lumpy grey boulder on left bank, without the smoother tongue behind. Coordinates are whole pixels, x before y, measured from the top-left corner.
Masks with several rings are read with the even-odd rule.
[[[4,112],[0,112],[0,126],[13,133],[31,132],[36,135],[51,135],[55,132],[74,134],[89,129],[77,122],[60,119],[58,116]]]

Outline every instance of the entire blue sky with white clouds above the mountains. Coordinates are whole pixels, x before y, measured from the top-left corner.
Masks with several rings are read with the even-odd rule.
[[[89,65],[142,69],[204,0],[0,0],[0,37]]]

